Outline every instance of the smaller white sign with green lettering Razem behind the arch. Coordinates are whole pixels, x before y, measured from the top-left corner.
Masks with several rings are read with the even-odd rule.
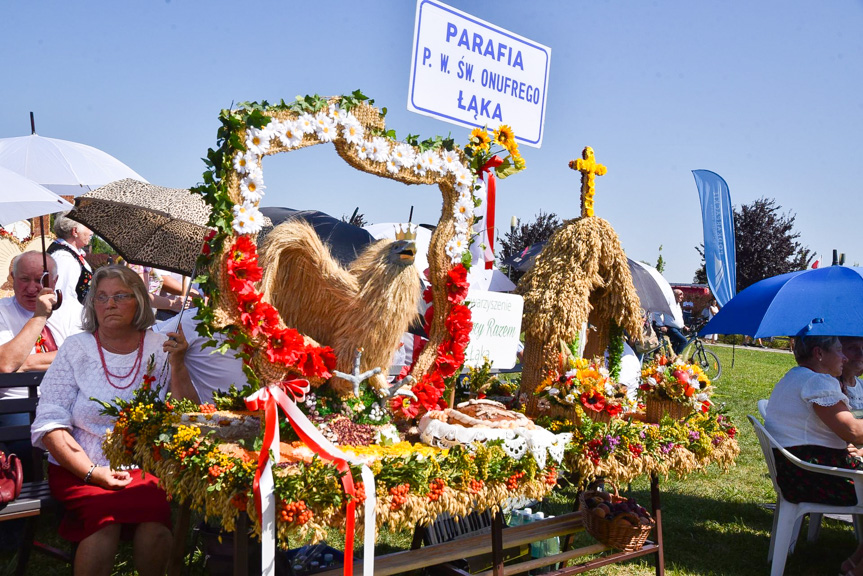
[[[488,358],[493,368],[506,370],[517,362],[524,300],[515,294],[468,291],[473,330],[465,350],[465,364],[481,366]]]

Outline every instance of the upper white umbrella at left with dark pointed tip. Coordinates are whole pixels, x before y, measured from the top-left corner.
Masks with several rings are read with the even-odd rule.
[[[30,136],[0,139],[0,167],[38,182],[63,196],[78,196],[115,180],[140,174],[101,150],[36,134],[33,115]]]

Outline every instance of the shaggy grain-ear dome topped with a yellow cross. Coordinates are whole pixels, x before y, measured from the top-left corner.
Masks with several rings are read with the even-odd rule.
[[[521,391],[531,395],[550,370],[559,367],[560,342],[572,342],[589,322],[584,356],[601,355],[609,343],[611,323],[629,334],[641,334],[641,303],[626,254],[614,228],[593,215],[594,175],[605,174],[593,150],[570,167],[582,172],[582,215],[567,220],[548,240],[536,263],[522,277],[525,349]]]

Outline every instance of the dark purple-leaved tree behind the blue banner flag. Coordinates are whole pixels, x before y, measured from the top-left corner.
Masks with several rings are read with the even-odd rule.
[[[751,204],[734,208],[734,247],[737,251],[737,291],[786,272],[804,270],[812,262],[812,252],[797,241],[792,212],[781,213],[774,198],[759,198]],[[707,283],[704,268],[704,245],[695,248],[701,254],[701,268],[695,281]]]

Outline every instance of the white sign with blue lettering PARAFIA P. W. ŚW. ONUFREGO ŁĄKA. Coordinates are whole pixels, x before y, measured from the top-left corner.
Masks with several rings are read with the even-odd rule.
[[[461,126],[510,126],[539,148],[551,48],[433,0],[417,1],[408,110]]]

